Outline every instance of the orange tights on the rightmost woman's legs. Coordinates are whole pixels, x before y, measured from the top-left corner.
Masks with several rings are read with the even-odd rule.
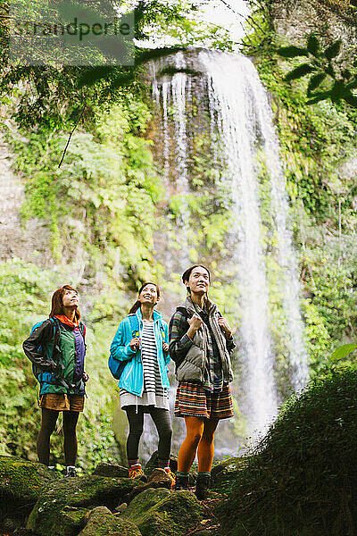
[[[210,473],[213,462],[213,438],[218,419],[185,417],[186,438],[179,448],[178,471],[188,473],[198,457],[198,471]]]

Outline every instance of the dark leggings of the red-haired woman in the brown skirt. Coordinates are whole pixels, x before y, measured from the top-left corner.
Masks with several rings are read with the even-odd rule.
[[[42,408],[41,430],[37,437],[37,457],[41,464],[49,465],[50,438],[54,431],[59,411]],[[76,426],[79,418],[78,411],[63,411],[63,448],[66,465],[75,465],[77,457]]]

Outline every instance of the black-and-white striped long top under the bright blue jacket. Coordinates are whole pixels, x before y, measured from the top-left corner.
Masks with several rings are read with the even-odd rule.
[[[120,389],[120,406],[155,406],[169,409],[167,389],[162,387],[157,348],[154,336],[154,322],[144,322],[140,339],[141,361],[144,373],[144,391],[137,397],[125,389]]]

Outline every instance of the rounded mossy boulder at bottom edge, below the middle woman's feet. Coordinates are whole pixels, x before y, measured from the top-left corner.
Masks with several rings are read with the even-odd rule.
[[[145,490],[120,517],[136,523],[142,536],[183,536],[203,519],[203,507],[191,491]]]

